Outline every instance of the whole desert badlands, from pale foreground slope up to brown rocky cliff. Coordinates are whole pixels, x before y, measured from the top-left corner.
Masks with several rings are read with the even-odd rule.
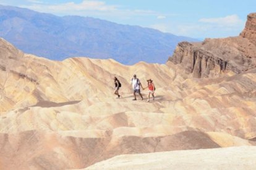
[[[132,101],[134,73],[155,101]],[[255,169],[256,14],[163,65],[53,61],[0,39],[0,95],[0,169]]]

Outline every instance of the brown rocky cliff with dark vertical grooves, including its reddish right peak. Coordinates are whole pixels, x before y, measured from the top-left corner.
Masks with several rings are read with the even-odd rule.
[[[248,15],[241,36],[205,39],[203,42],[180,42],[169,61],[180,64],[195,78],[219,76],[232,71],[241,73],[256,67],[256,14]]]

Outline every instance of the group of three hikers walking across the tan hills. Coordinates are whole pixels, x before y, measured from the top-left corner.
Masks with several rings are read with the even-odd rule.
[[[153,84],[153,80],[148,79],[148,100],[147,102],[150,101],[150,94],[153,97],[153,100],[155,100],[155,85]],[[142,94],[140,93],[140,87],[142,87],[142,84],[140,83],[140,80],[137,78],[136,75],[134,75],[134,77],[131,80],[130,86],[132,87],[132,89],[134,90],[134,99],[133,100],[137,100],[136,98],[136,93],[138,93],[140,95],[140,97],[143,100]],[[114,94],[117,95],[117,98],[120,98],[119,95],[119,88],[121,87],[121,83],[119,81],[119,79],[117,79],[116,77],[114,77]],[[142,89],[144,90],[145,88],[142,87]]]

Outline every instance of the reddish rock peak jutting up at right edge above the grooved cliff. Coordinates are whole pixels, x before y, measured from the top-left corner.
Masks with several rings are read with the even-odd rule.
[[[256,44],[256,13],[247,16],[245,28],[240,35],[243,38],[250,39],[252,43]]]

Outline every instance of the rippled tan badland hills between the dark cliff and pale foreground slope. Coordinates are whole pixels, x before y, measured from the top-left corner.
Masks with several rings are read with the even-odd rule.
[[[171,62],[57,62],[0,45],[0,169],[86,168],[121,154],[255,145],[256,70],[197,79]],[[154,80],[155,101],[132,101],[134,73],[144,86]]]

